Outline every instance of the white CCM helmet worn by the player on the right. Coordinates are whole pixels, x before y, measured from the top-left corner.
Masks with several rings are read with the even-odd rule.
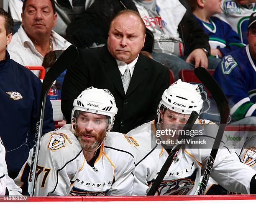
[[[203,100],[198,85],[177,80],[164,91],[159,108],[164,105],[174,112],[191,114],[192,111],[195,111],[199,114],[202,104]]]

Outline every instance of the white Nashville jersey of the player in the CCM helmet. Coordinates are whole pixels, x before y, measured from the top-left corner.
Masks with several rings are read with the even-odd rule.
[[[199,122],[204,126],[210,123],[202,119]],[[159,148],[160,144],[154,142],[156,146],[153,146],[154,148],[151,146],[152,123],[154,124],[154,121],[145,123],[126,134],[139,144],[136,147],[133,195],[145,195],[148,192],[168,157],[166,150],[161,146]],[[211,149],[189,148],[188,144],[182,147],[156,195],[194,195],[210,151]],[[249,194],[251,179],[255,174],[256,171],[242,163],[237,154],[231,154],[228,149],[222,148],[218,151],[211,177],[230,191]]]

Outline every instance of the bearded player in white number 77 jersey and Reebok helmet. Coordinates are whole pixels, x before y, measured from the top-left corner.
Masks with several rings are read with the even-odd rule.
[[[107,89],[90,87],[73,105],[72,124],[41,139],[34,195],[131,195],[134,147],[124,134],[110,132],[118,111],[113,95]],[[23,193],[31,154],[32,150],[15,179]]]

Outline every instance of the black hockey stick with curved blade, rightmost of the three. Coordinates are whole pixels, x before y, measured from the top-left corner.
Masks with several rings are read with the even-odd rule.
[[[205,189],[206,189],[208,180],[210,178],[210,173],[212,171],[212,167],[213,167],[218,149],[220,147],[220,142],[223,137],[226,124],[228,122],[230,107],[228,104],[227,97],[223,93],[222,89],[220,88],[218,83],[214,80],[212,75],[210,75],[210,73],[204,67],[197,67],[195,69],[195,75],[202,82],[202,84],[207,88],[207,90],[209,90],[220,111],[220,127],[218,129],[215,141],[213,143],[212,151],[207,161],[206,169],[203,174],[202,182],[200,184],[200,188],[198,192],[198,195],[203,195],[205,194]]]

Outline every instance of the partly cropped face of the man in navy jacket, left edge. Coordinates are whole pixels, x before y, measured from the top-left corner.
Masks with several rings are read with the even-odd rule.
[[[12,39],[12,34],[6,35],[5,17],[0,16],[0,60],[5,59],[5,49]]]

